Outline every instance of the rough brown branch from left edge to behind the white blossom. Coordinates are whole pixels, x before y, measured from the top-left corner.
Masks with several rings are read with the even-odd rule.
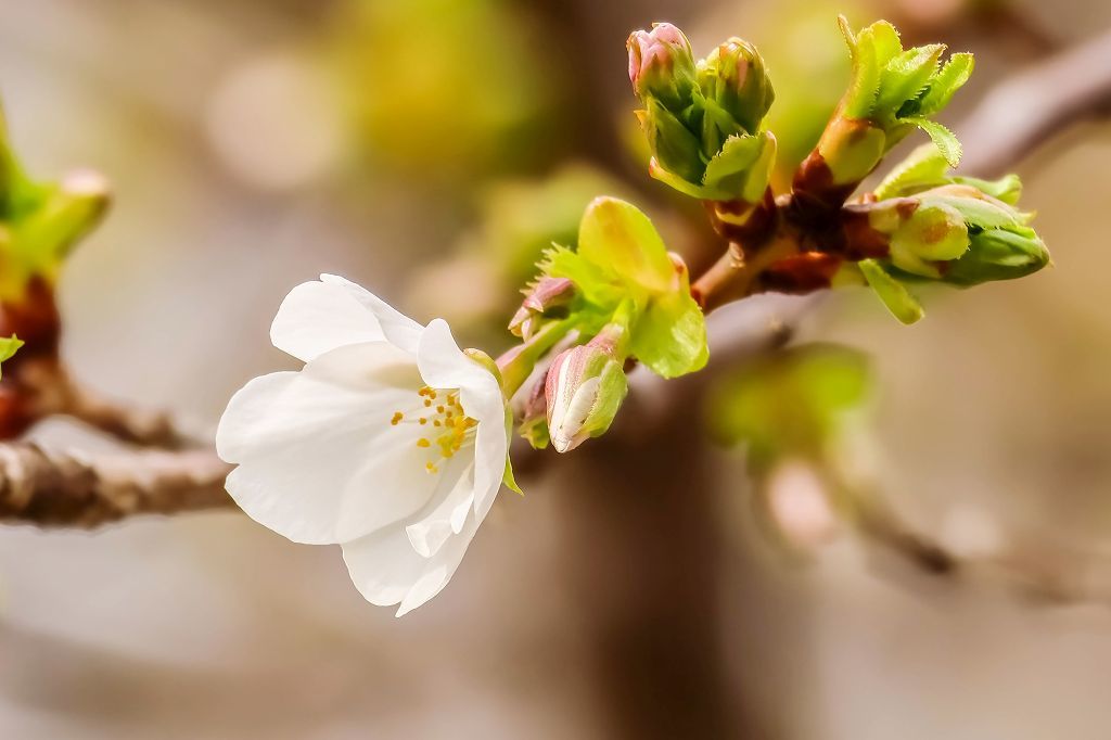
[[[230,467],[211,451],[141,451],[82,459],[0,444],[0,521],[92,528],[126,517],[232,506]]]

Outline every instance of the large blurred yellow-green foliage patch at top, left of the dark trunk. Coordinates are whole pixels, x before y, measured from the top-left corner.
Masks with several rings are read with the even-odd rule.
[[[513,3],[406,0],[340,7],[330,53],[357,138],[394,174],[458,182],[543,159],[559,67]]]

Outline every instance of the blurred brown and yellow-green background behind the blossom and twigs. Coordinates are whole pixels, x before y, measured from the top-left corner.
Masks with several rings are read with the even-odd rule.
[[[0,0],[0,12],[17,150],[40,177],[88,166],[114,186],[61,284],[66,358],[88,384],[202,431],[248,378],[291,367],[267,329],[320,272],[418,320],[444,316],[494,352],[537,253],[573,241],[597,194],[635,200],[694,271],[712,260],[697,204],[644,173],[633,29],[675,22],[698,54],[730,34],[759,46],[782,184],[848,79],[838,12],[974,51],[947,113],[958,132],[1000,80],[1111,27],[1102,0]],[[1111,57],[1098,62],[1078,73],[1107,76]],[[501,498],[452,583],[403,620],[362,601],[338,548],[238,513],[0,530],[0,737],[1105,738],[1109,601],[1073,597],[1111,588],[1092,564],[1111,558],[1109,131],[1089,123],[1011,162],[1054,269],[929,293],[911,328],[863,290],[715,317],[798,320],[795,341],[867,358],[844,371],[870,390],[837,422],[837,453],[777,438],[783,411],[769,407],[760,428],[791,464],[755,474],[714,442],[740,423],[727,391],[684,396],[639,433],[529,457],[528,494]],[[720,374],[779,398],[760,384],[777,361]],[[61,422],[37,436],[106,444]],[[812,503],[839,488],[882,497],[953,552],[1007,552],[1069,588],[930,574],[821,506],[817,529],[769,531],[777,490]]]

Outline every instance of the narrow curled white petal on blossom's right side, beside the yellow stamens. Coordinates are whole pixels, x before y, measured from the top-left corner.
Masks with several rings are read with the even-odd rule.
[[[479,422],[474,460],[474,507],[486,516],[501,488],[509,444],[506,401],[498,379],[468,358],[443,319],[428,324],[417,350],[421,377],[432,388],[458,388],[467,416]]]

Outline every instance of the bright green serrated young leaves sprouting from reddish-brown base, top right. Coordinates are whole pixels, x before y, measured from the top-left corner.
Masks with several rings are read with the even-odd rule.
[[[972,54],[955,53],[940,64],[944,44],[903,49],[899,32],[887,21],[855,34],[843,17],[840,24],[852,54],[852,83],[799,169],[795,190],[843,200],[915,128],[955,166],[960,142],[932,117],[968,81]]]

